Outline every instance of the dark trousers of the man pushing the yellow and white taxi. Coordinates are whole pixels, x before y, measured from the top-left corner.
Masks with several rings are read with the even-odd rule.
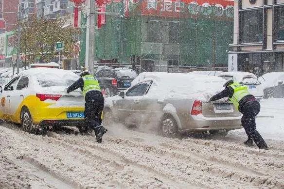
[[[102,112],[104,110],[104,96],[102,93],[86,94],[85,98],[85,123],[89,128],[94,129],[95,127],[102,124]]]

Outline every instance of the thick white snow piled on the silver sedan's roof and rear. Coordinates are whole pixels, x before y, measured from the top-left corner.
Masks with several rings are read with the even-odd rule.
[[[226,81],[214,76],[145,72],[134,79],[131,86],[147,80],[153,80],[153,83],[144,97],[159,100],[168,98],[207,100],[206,96],[211,97],[222,91]]]

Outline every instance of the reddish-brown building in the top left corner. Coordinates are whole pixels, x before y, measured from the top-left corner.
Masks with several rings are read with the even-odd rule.
[[[17,21],[18,0],[0,0],[0,33],[14,30]]]

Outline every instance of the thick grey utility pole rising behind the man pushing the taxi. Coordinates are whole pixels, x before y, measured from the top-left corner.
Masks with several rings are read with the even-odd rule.
[[[90,0],[89,7],[89,71],[91,75],[94,74],[94,60],[95,60],[95,0]]]

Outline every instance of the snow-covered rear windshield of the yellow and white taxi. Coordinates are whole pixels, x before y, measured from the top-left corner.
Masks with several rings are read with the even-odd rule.
[[[76,75],[74,76],[73,74],[58,75],[53,73],[49,73],[48,75],[40,74],[35,77],[41,87],[52,87],[52,86],[68,87],[78,79],[78,77],[76,77]]]

